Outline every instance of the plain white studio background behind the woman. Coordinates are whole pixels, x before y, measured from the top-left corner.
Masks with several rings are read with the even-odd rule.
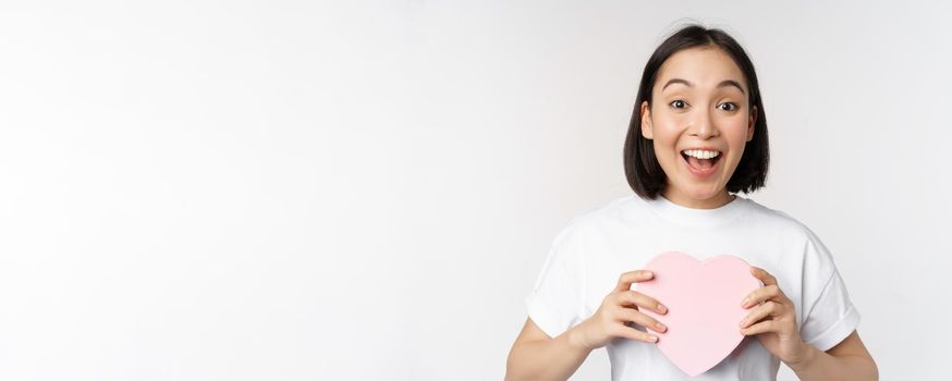
[[[757,67],[749,197],[832,250],[883,380],[942,379],[938,3],[3,1],[0,379],[502,379],[689,21]]]

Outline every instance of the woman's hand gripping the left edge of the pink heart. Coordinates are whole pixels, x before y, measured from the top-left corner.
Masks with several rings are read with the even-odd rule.
[[[627,322],[634,322],[655,332],[664,332],[667,327],[654,318],[642,314],[638,307],[648,308],[657,314],[667,314],[668,308],[654,298],[632,291],[632,283],[651,280],[654,273],[647,270],[625,272],[619,278],[618,286],[601,302],[601,306],[590,318],[575,327],[578,340],[586,349],[596,349],[608,344],[613,337],[627,337],[646,343],[656,343],[658,337],[642,332]]]

